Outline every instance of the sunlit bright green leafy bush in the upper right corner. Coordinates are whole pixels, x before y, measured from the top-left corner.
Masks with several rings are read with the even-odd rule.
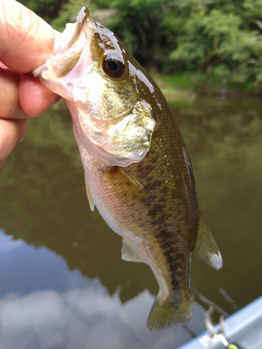
[[[202,6],[196,6],[201,3]],[[254,1],[252,1],[254,6]],[[189,70],[203,70],[224,82],[257,83],[262,78],[262,1],[191,1],[189,17],[177,31],[170,59]],[[259,10],[260,8],[260,10]]]

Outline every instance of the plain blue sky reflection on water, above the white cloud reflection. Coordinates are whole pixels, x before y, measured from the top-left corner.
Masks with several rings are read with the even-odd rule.
[[[64,259],[48,248],[35,248],[22,239],[13,240],[1,230],[0,266],[0,297],[44,289],[61,292],[91,282],[78,269],[69,273]]]

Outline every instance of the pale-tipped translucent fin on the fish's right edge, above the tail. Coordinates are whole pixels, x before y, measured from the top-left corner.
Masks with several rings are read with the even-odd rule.
[[[203,220],[203,214],[199,209],[198,213],[198,232],[196,235],[196,243],[193,252],[208,263],[214,269],[220,269],[222,266],[222,257],[217,244]]]

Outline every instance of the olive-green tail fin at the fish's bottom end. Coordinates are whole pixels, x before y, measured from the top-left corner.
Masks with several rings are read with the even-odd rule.
[[[177,305],[171,302],[162,303],[157,298],[147,319],[147,329],[151,332],[171,325],[182,325],[191,319],[192,312],[193,299]]]

